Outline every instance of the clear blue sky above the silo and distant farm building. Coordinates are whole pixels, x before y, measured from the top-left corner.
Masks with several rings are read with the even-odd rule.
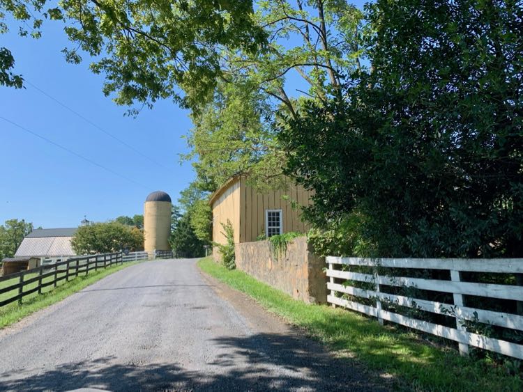
[[[363,1],[356,4],[362,7]],[[194,178],[190,163],[179,159],[188,152],[182,138],[192,127],[188,111],[162,101],[137,118],[124,116],[128,108],[103,95],[103,77],[89,71],[89,58],[80,65],[66,63],[60,51],[70,45],[62,28],[44,22],[43,37],[34,40],[18,36],[17,24],[11,24],[12,31],[0,35],[0,47],[15,56],[15,73],[29,82],[22,90],[0,86],[0,117],[116,174],[0,119],[0,224],[16,218],[35,227],[74,227],[84,215],[107,221],[142,214],[146,196],[156,190],[176,201]],[[301,79],[287,76],[289,93],[297,95],[296,88],[304,89]]]

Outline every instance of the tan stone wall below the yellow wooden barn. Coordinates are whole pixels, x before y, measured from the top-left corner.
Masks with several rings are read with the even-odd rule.
[[[327,301],[325,260],[312,253],[306,237],[287,245],[280,258],[271,254],[268,241],[236,244],[236,268],[273,288],[287,292],[294,299],[308,303]]]

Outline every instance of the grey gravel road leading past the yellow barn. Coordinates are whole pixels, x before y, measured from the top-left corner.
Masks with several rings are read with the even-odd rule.
[[[0,390],[376,391],[195,260],[144,262],[0,331]]]

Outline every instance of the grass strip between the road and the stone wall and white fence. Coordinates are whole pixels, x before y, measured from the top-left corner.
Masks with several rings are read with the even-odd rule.
[[[367,368],[400,380],[398,388],[427,391],[522,391],[518,376],[485,359],[459,356],[450,348],[436,347],[415,334],[382,327],[376,320],[330,306],[310,305],[292,299],[244,272],[229,271],[211,258],[199,267],[245,292],[268,311],[321,341],[338,356],[353,356]]]

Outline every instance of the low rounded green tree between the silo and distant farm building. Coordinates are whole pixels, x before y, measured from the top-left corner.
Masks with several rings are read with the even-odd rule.
[[[96,223],[79,227],[71,240],[73,250],[81,255],[87,253],[110,253],[129,249],[144,249],[142,230],[118,222]]]

